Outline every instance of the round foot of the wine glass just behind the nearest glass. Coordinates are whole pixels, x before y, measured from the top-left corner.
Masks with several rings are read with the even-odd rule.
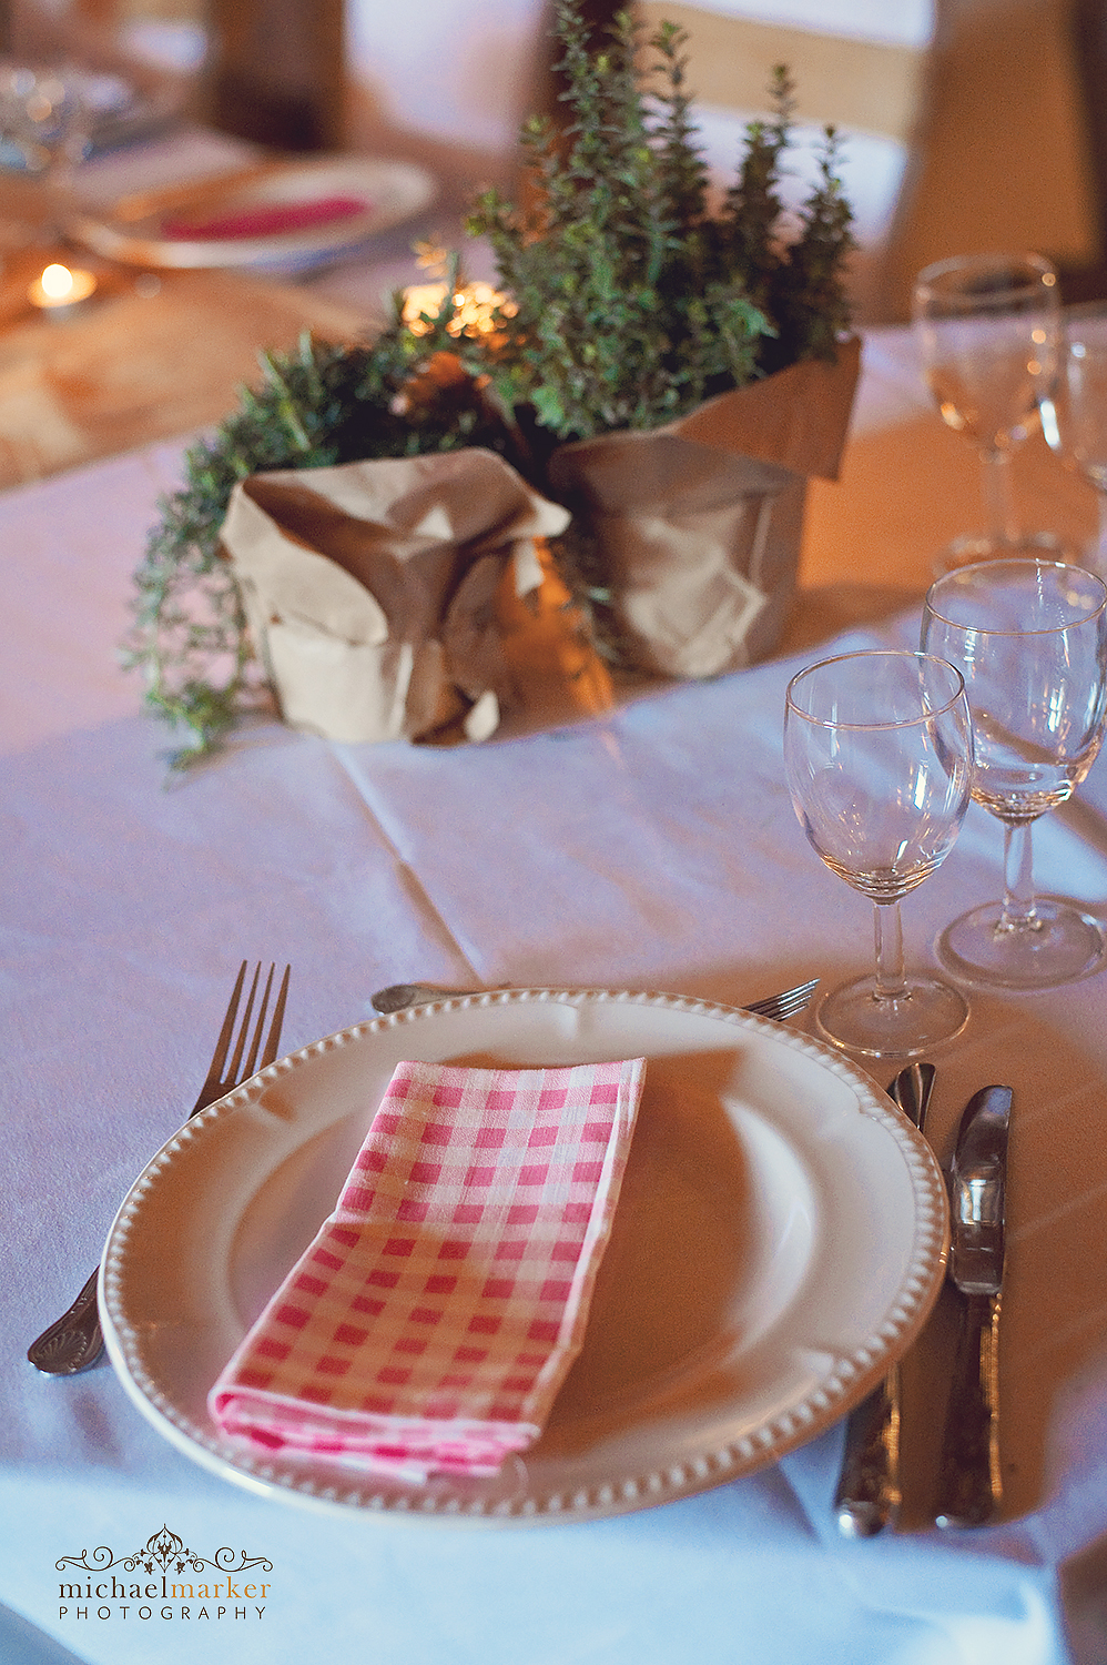
[[[1092,914],[1062,897],[1039,896],[1029,926],[1002,929],[1002,904],[970,909],[937,937],[942,966],[984,989],[1055,989],[1099,971],[1107,934]]]

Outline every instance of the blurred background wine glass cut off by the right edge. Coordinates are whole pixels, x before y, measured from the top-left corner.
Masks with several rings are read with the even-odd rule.
[[[1042,401],[1050,448],[1095,488],[1099,534],[1084,564],[1107,578],[1107,313],[1074,306],[1065,313],[1065,348],[1052,398]]]

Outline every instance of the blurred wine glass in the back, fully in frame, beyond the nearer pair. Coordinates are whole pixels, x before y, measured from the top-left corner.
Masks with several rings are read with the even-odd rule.
[[[916,278],[912,320],[922,371],[944,421],[979,450],[984,536],[956,538],[939,571],[1009,554],[1057,554],[1050,533],[1024,534],[1010,458],[1039,420],[1060,361],[1057,273],[1040,255],[959,255]]]

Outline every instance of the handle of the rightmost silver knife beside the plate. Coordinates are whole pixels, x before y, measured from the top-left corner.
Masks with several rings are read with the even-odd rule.
[[[999,1295],[964,1297],[939,1469],[939,1527],[984,1527],[1002,1497],[999,1309]]]

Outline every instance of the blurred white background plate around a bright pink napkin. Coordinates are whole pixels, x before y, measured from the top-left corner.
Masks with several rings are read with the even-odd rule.
[[[190,211],[185,205],[120,218],[112,211],[78,210],[67,230],[87,248],[108,260],[135,266],[275,266],[295,270],[335,260],[388,226],[400,225],[434,198],[434,181],[410,162],[380,162],[366,157],[328,157],[313,162],[260,170],[258,176],[230,185],[215,195],[210,181],[198,181]],[[333,216],[293,230],[258,235],[188,236],[181,226],[213,225],[250,216],[326,213]]]

